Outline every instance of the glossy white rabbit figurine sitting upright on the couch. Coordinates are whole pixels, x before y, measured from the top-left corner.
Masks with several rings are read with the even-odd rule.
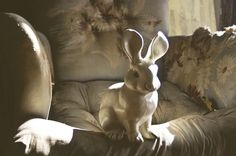
[[[167,51],[169,43],[162,32],[152,39],[145,57],[142,57],[143,37],[133,29],[123,35],[124,51],[130,69],[124,82],[109,87],[101,97],[99,121],[112,139],[121,139],[126,133],[131,142],[153,138],[149,132],[152,115],[158,103],[158,66],[155,61]]]

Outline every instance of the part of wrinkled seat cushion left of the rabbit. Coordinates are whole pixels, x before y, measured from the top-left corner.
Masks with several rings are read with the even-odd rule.
[[[60,82],[53,94],[50,118],[68,125],[101,132],[98,122],[101,93],[113,81]]]

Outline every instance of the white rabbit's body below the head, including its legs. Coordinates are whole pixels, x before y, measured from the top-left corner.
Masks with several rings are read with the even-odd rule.
[[[145,127],[151,124],[152,114],[157,107],[157,91],[143,94],[130,90],[122,83],[122,87],[109,89],[103,96],[100,118],[107,118],[103,128],[111,132],[110,135],[113,135],[111,137],[119,137],[119,134],[112,132],[118,128],[121,130],[118,132],[126,130],[129,139],[134,140],[139,135],[138,129],[141,125]],[[101,113],[105,116],[102,117]],[[112,120],[114,118],[116,120]],[[147,127],[141,131],[141,134],[150,138],[151,135],[145,131],[146,129]]]

